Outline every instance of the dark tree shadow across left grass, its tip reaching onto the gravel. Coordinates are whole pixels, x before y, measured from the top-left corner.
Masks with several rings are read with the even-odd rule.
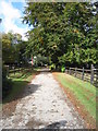
[[[24,98],[39,90],[41,85],[29,84],[27,81],[14,81],[14,85],[2,104],[11,103]]]

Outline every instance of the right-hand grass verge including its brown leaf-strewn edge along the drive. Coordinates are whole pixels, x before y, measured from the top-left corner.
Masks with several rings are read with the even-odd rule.
[[[87,127],[96,127],[96,87],[88,82],[65,73],[54,73],[66,95],[86,120]]]

